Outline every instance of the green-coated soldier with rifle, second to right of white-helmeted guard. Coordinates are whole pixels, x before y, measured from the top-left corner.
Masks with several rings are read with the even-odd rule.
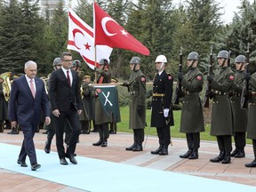
[[[212,163],[221,162],[222,164],[230,164],[233,118],[228,92],[234,84],[235,74],[231,68],[228,67],[228,51],[220,51],[217,58],[220,72],[214,76],[214,78],[210,75],[207,76],[207,81],[214,92],[212,95],[213,104],[210,134],[217,137],[220,154],[219,156],[210,159],[210,161]]]

